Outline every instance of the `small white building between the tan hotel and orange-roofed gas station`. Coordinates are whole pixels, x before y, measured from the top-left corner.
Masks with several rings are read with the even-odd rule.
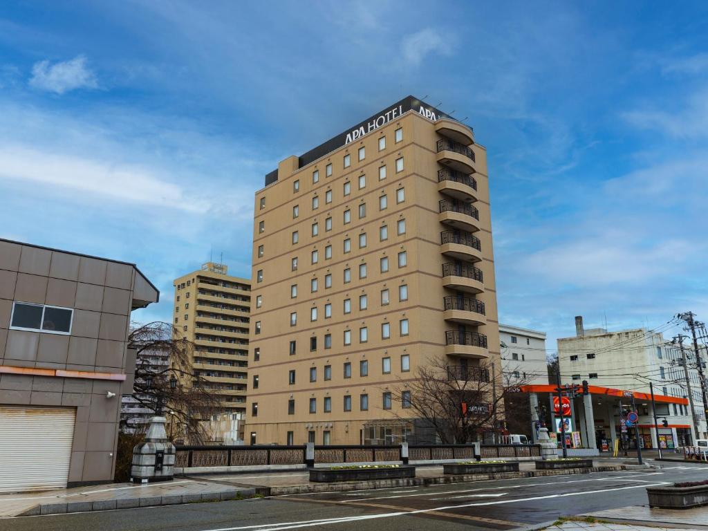
[[[546,333],[499,324],[501,367],[505,376],[527,384],[547,384]]]

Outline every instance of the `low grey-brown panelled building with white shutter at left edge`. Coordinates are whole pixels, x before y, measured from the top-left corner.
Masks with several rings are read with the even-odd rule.
[[[0,239],[0,492],[113,480],[130,313],[158,298],[132,263]]]

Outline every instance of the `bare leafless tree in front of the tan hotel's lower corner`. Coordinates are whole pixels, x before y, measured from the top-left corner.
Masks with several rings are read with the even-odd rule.
[[[513,371],[496,371],[496,381],[492,373],[491,361],[468,368],[447,365],[444,358],[430,358],[418,367],[413,380],[396,385],[392,394],[404,405],[396,416],[420,419],[442,444],[478,440],[485,432],[499,429],[504,399],[526,383]]]

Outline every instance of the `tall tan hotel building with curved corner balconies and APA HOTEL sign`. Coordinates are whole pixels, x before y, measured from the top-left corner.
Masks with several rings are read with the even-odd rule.
[[[420,365],[501,374],[488,181],[472,130],[413,96],[265,176],[247,443],[414,442],[396,390]]]

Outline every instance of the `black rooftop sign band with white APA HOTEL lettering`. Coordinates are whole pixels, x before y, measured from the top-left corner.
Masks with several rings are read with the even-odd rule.
[[[302,168],[302,166],[307,166],[307,164],[310,164],[322,156],[333,152],[335,149],[346,146],[351,142],[355,142],[367,133],[377,130],[379,127],[386,125],[392,120],[396,120],[409,110],[415,110],[428,118],[428,120],[433,120],[433,122],[438,120],[438,118],[452,118],[450,115],[442,113],[440,110],[433,107],[433,105],[428,105],[428,103],[425,103],[418,98],[414,98],[413,96],[406,96],[406,98],[403,98],[401,101],[394,103],[390,107],[385,108],[370,118],[367,118],[360,124],[357,124],[351,129],[327,140],[324,144],[320,144],[316,148],[310,149],[309,152],[300,155],[298,167]],[[269,184],[275,183],[275,181],[278,181],[277,169],[271,171],[265,176],[265,185],[268,186]]]

